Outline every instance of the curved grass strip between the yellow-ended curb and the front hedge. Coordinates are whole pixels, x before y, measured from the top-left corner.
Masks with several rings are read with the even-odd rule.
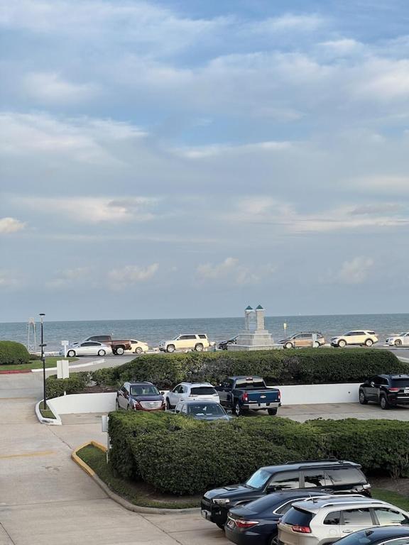
[[[109,486],[112,492],[116,492],[116,494],[124,497],[133,503],[133,505],[167,509],[200,507],[201,496],[182,497],[171,494],[160,494],[145,483],[136,483],[116,477],[109,464],[107,464],[106,454],[96,446],[84,446],[77,454]]]

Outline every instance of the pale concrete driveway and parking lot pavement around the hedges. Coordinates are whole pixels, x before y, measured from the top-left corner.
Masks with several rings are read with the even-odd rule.
[[[105,358],[98,366],[125,360],[129,356]],[[99,418],[70,415],[63,426],[39,424],[33,409],[41,388],[42,373],[0,375],[0,545],[229,543],[198,514],[142,515],[110,500],[70,459],[83,442],[106,440]],[[318,416],[409,420],[409,409],[359,404],[283,407],[280,414],[300,422]]]

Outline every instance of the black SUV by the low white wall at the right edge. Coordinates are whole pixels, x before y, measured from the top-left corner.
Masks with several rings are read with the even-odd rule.
[[[381,409],[409,404],[409,375],[374,375],[359,386],[359,402],[374,401]]]

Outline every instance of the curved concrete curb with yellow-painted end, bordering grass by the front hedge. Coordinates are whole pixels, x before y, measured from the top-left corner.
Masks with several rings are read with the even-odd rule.
[[[119,503],[122,507],[127,509],[128,511],[133,511],[134,513],[144,513],[144,514],[192,514],[192,513],[199,513],[200,507],[188,507],[187,509],[167,509],[165,507],[143,507],[141,505],[134,505],[133,503],[129,502],[128,500],[125,500],[123,497],[119,496],[115,492],[112,492],[112,490],[109,488],[109,486],[104,483],[103,480],[101,480],[97,473],[88,466],[87,463],[85,463],[80,456],[77,455],[77,452],[80,451],[84,446],[95,446],[99,448],[103,452],[107,452],[107,447],[102,445],[101,443],[98,443],[97,441],[87,441],[87,443],[84,443],[81,446],[77,446],[74,451],[71,453],[71,458],[75,463],[82,468],[85,473],[88,473],[88,475],[99,485],[102,490],[111,498],[111,500],[114,500],[114,502]]]

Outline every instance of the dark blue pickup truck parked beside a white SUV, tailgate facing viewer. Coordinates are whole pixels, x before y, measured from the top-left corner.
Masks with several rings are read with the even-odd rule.
[[[215,388],[220,403],[231,407],[239,417],[247,410],[266,410],[268,414],[277,414],[280,407],[280,390],[268,388],[261,377],[229,377]]]

